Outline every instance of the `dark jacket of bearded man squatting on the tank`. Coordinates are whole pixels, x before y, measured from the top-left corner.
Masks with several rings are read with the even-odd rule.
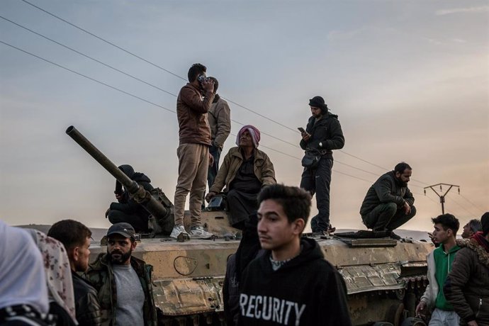
[[[393,171],[383,174],[367,191],[364,202],[361,203],[360,215],[364,216],[381,203],[396,203],[398,208],[408,202],[409,206],[415,203],[415,198],[407,186],[403,186],[395,178]]]

